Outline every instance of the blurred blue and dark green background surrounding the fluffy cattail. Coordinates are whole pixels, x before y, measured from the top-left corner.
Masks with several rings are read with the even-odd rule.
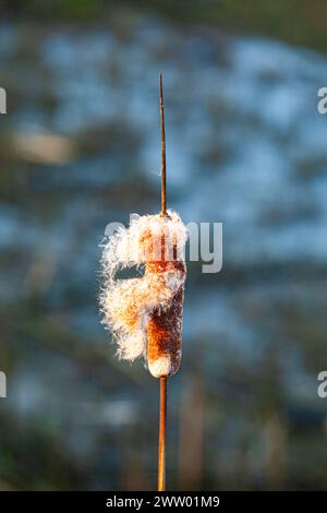
[[[323,0],[1,1],[0,488],[156,487],[158,383],[100,325],[110,222],[223,223],[189,264],[172,490],[327,489]]]

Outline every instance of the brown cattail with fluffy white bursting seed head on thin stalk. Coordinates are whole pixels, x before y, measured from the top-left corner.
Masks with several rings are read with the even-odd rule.
[[[166,136],[162,76],[161,212],[134,215],[129,228],[106,241],[102,252],[105,283],[100,294],[104,324],[118,344],[119,358],[133,361],[144,356],[154,378],[160,379],[158,490],[166,489],[167,378],[180,368],[182,318],[186,278],[187,230],[180,216],[166,207]],[[136,266],[141,277],[118,279],[122,269]]]

